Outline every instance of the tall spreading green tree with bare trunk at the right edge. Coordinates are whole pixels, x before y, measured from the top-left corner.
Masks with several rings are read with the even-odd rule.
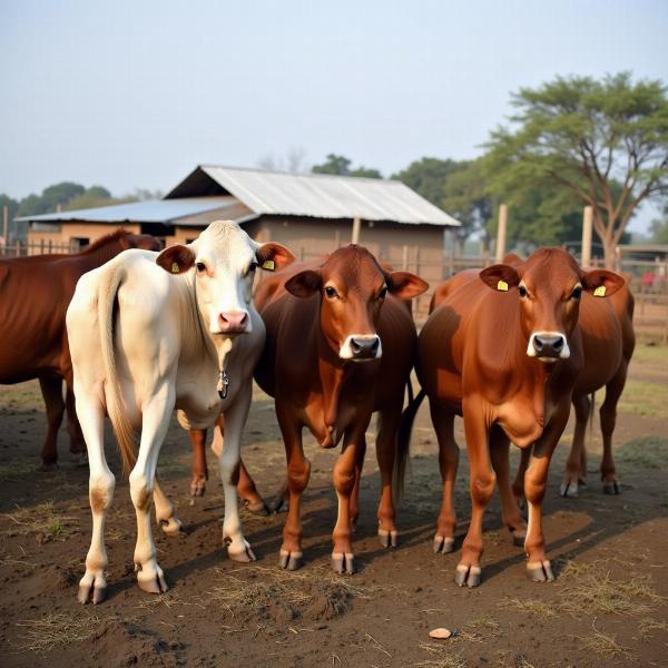
[[[558,77],[512,96],[512,128],[488,144],[497,191],[546,184],[593,207],[606,266],[637,206],[668,191],[668,99],[660,81],[622,72],[601,81]],[[619,187],[616,187],[616,184]]]

